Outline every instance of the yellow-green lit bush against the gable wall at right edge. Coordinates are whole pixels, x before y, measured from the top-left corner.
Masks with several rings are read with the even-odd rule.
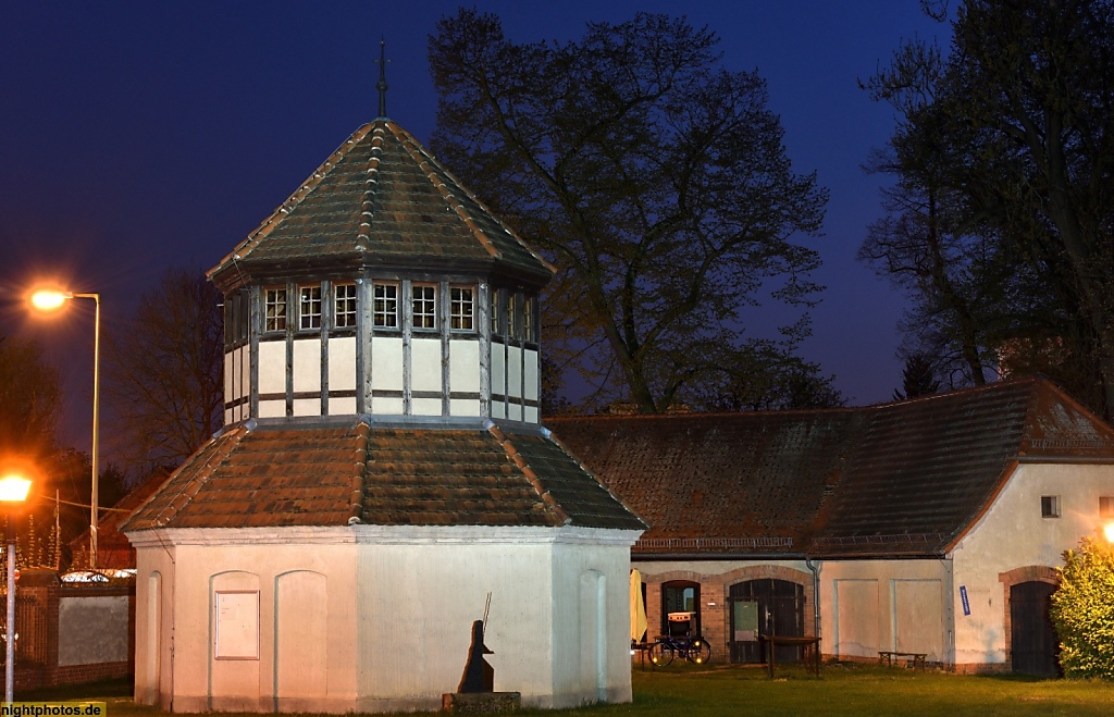
[[[1051,613],[1064,676],[1114,679],[1114,549],[1084,538],[1064,552]]]

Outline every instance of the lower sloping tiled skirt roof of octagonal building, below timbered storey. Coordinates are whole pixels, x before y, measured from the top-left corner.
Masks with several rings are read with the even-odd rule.
[[[545,435],[353,420],[234,429],[123,529],[350,523],[645,527]]]

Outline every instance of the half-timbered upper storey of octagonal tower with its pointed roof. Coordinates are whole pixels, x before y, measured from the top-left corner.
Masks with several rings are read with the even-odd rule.
[[[225,423],[536,424],[551,275],[409,132],[365,125],[209,272],[226,296]]]

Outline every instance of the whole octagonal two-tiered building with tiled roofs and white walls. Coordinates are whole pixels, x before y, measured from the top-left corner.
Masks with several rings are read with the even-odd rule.
[[[224,429],[121,527],[138,703],[436,709],[488,601],[496,690],[631,700],[645,524],[539,423],[551,274],[385,117],[209,272]]]

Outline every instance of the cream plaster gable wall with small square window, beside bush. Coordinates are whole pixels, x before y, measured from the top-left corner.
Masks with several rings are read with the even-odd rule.
[[[1040,517],[1040,497],[1058,495],[1059,518]],[[1006,661],[1009,606],[998,574],[1063,566],[1062,554],[1100,527],[1098,498],[1114,495],[1114,465],[1022,464],[998,499],[952,551],[956,661]],[[959,587],[967,588],[965,616]]]

